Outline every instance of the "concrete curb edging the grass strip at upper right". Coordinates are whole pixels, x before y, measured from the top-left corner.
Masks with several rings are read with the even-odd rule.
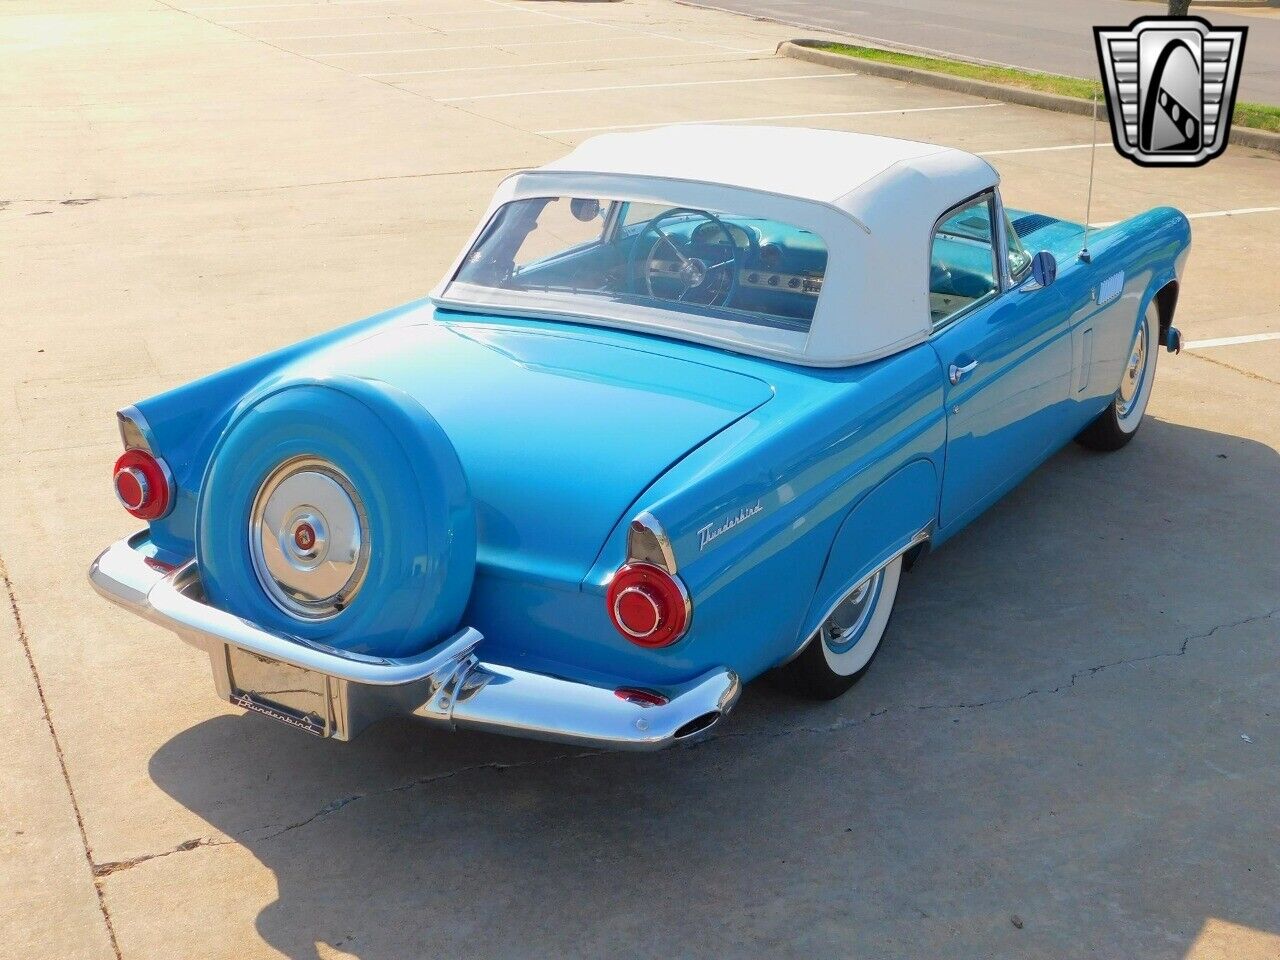
[[[1021,106],[1036,106],[1041,110],[1057,110],[1064,114],[1078,114],[1091,116],[1093,114],[1093,101],[1078,97],[1065,97],[1059,93],[1046,93],[1039,90],[1023,90],[1020,87],[1006,87],[1002,83],[970,79],[968,77],[952,77],[946,73],[933,73],[932,70],[919,70],[914,67],[899,67],[897,64],[879,63],[877,60],[863,60],[856,56],[833,54],[828,50],[817,49],[819,44],[827,41],[818,40],[785,40],[778,44],[780,56],[791,56],[796,60],[835,67],[842,70],[855,70],[873,77],[890,77],[908,83],[922,83],[928,87],[951,90],[956,93],[970,93],[986,97],[987,100],[1000,100],[1005,104],[1020,104]],[[1107,119],[1107,105],[1098,102],[1098,119]],[[1280,154],[1280,133],[1270,131],[1256,131],[1249,127],[1231,127],[1231,143],[1256,150],[1268,150]]]

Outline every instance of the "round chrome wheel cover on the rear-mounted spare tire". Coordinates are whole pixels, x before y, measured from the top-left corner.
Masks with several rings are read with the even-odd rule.
[[[369,567],[369,520],[333,463],[298,457],[273,470],[248,521],[253,572],[271,602],[301,620],[328,620],[360,591]]]

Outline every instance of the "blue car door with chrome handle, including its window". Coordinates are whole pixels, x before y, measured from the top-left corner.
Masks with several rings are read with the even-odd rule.
[[[1066,439],[1073,355],[1065,303],[1030,279],[993,191],[945,212],[931,251],[932,343],[947,379],[940,526],[948,531]]]

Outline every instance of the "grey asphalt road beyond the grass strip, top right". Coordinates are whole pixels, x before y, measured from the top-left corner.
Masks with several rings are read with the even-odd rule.
[[[1164,12],[1162,4],[1133,0],[1075,0],[1066,6],[1061,0],[682,1],[1075,77],[1098,76],[1091,27]],[[1249,28],[1240,99],[1280,104],[1280,17],[1240,17],[1194,4],[1192,13],[1219,26]]]

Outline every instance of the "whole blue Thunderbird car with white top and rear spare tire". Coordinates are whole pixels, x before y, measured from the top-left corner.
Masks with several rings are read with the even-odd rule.
[[[426,300],[120,411],[147,529],[91,580],[339,740],[654,749],[765,671],[836,696],[922,550],[1138,430],[1189,227],[1083,233],[925,143],[598,137],[507,179]]]

